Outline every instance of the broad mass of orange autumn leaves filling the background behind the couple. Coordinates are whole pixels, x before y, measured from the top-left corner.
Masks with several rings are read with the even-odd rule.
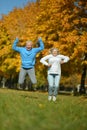
[[[61,53],[71,57],[72,67],[79,63],[82,53],[87,50],[87,18],[73,2],[41,0],[23,9],[15,8],[4,16],[0,21],[0,65],[4,71],[7,68],[19,71],[19,54],[11,49],[15,37],[19,37],[19,45],[24,45],[26,40],[36,42],[38,36],[42,37],[45,50],[37,55],[37,61],[48,54],[50,48],[57,47]]]

